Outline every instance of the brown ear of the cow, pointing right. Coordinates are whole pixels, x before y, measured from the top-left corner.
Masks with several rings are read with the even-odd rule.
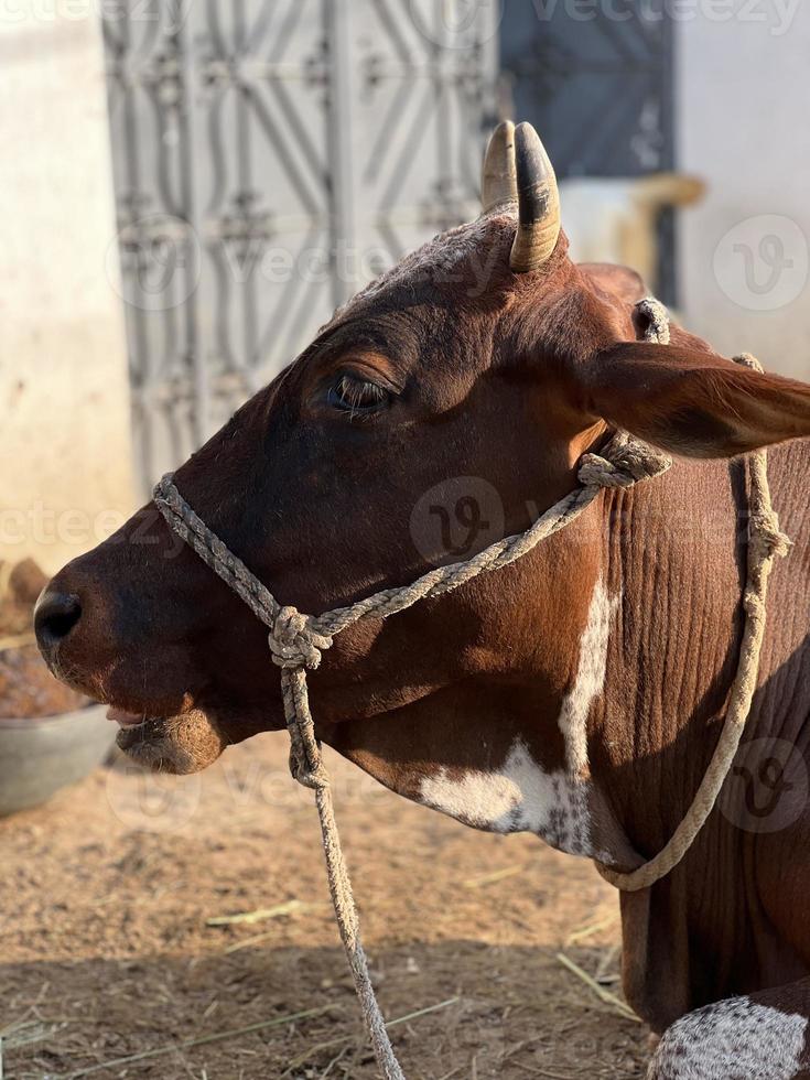
[[[581,378],[591,414],[687,457],[810,435],[810,386],[698,349],[624,342],[593,356]]]

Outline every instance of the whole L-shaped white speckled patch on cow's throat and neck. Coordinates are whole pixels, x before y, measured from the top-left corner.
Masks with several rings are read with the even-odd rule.
[[[566,767],[547,773],[522,738],[511,744],[504,764],[485,773],[451,775],[441,768],[425,777],[419,801],[489,832],[533,832],[552,847],[593,857],[588,812],[587,717],[602,691],[607,666],[611,618],[618,597],[609,600],[597,582],[580,642],[574,684],[565,695],[559,724],[565,738]]]

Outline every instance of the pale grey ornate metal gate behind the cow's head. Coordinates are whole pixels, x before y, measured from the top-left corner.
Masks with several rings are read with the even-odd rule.
[[[104,4],[144,487],[334,306],[477,213],[496,0]]]

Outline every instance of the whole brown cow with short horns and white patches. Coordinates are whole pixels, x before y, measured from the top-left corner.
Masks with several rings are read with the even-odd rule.
[[[176,474],[281,603],[317,614],[525,529],[612,426],[679,455],[508,569],[346,630],[311,677],[320,737],[389,788],[626,868],[682,819],[734,676],[732,458],[810,435],[810,388],[679,328],[639,341],[642,294],[569,260],[544,151],[501,126],[482,217],[336,312]],[[683,863],[622,897],[627,997],[666,1032],[652,1077],[810,1077],[809,467],[806,442],[770,455],[795,547],[747,749]],[[264,627],[152,504],[54,577],[36,627],[52,670],[115,706],[120,744],[156,768],[283,726]]]

